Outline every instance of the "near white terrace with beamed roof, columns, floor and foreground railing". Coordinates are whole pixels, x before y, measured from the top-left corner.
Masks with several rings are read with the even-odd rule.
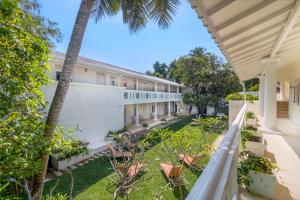
[[[277,179],[290,198],[300,199],[300,1],[190,2],[239,79],[259,78],[257,114],[280,167]],[[187,199],[238,198],[236,163],[246,110],[245,105]],[[288,199],[283,193],[277,199]]]

